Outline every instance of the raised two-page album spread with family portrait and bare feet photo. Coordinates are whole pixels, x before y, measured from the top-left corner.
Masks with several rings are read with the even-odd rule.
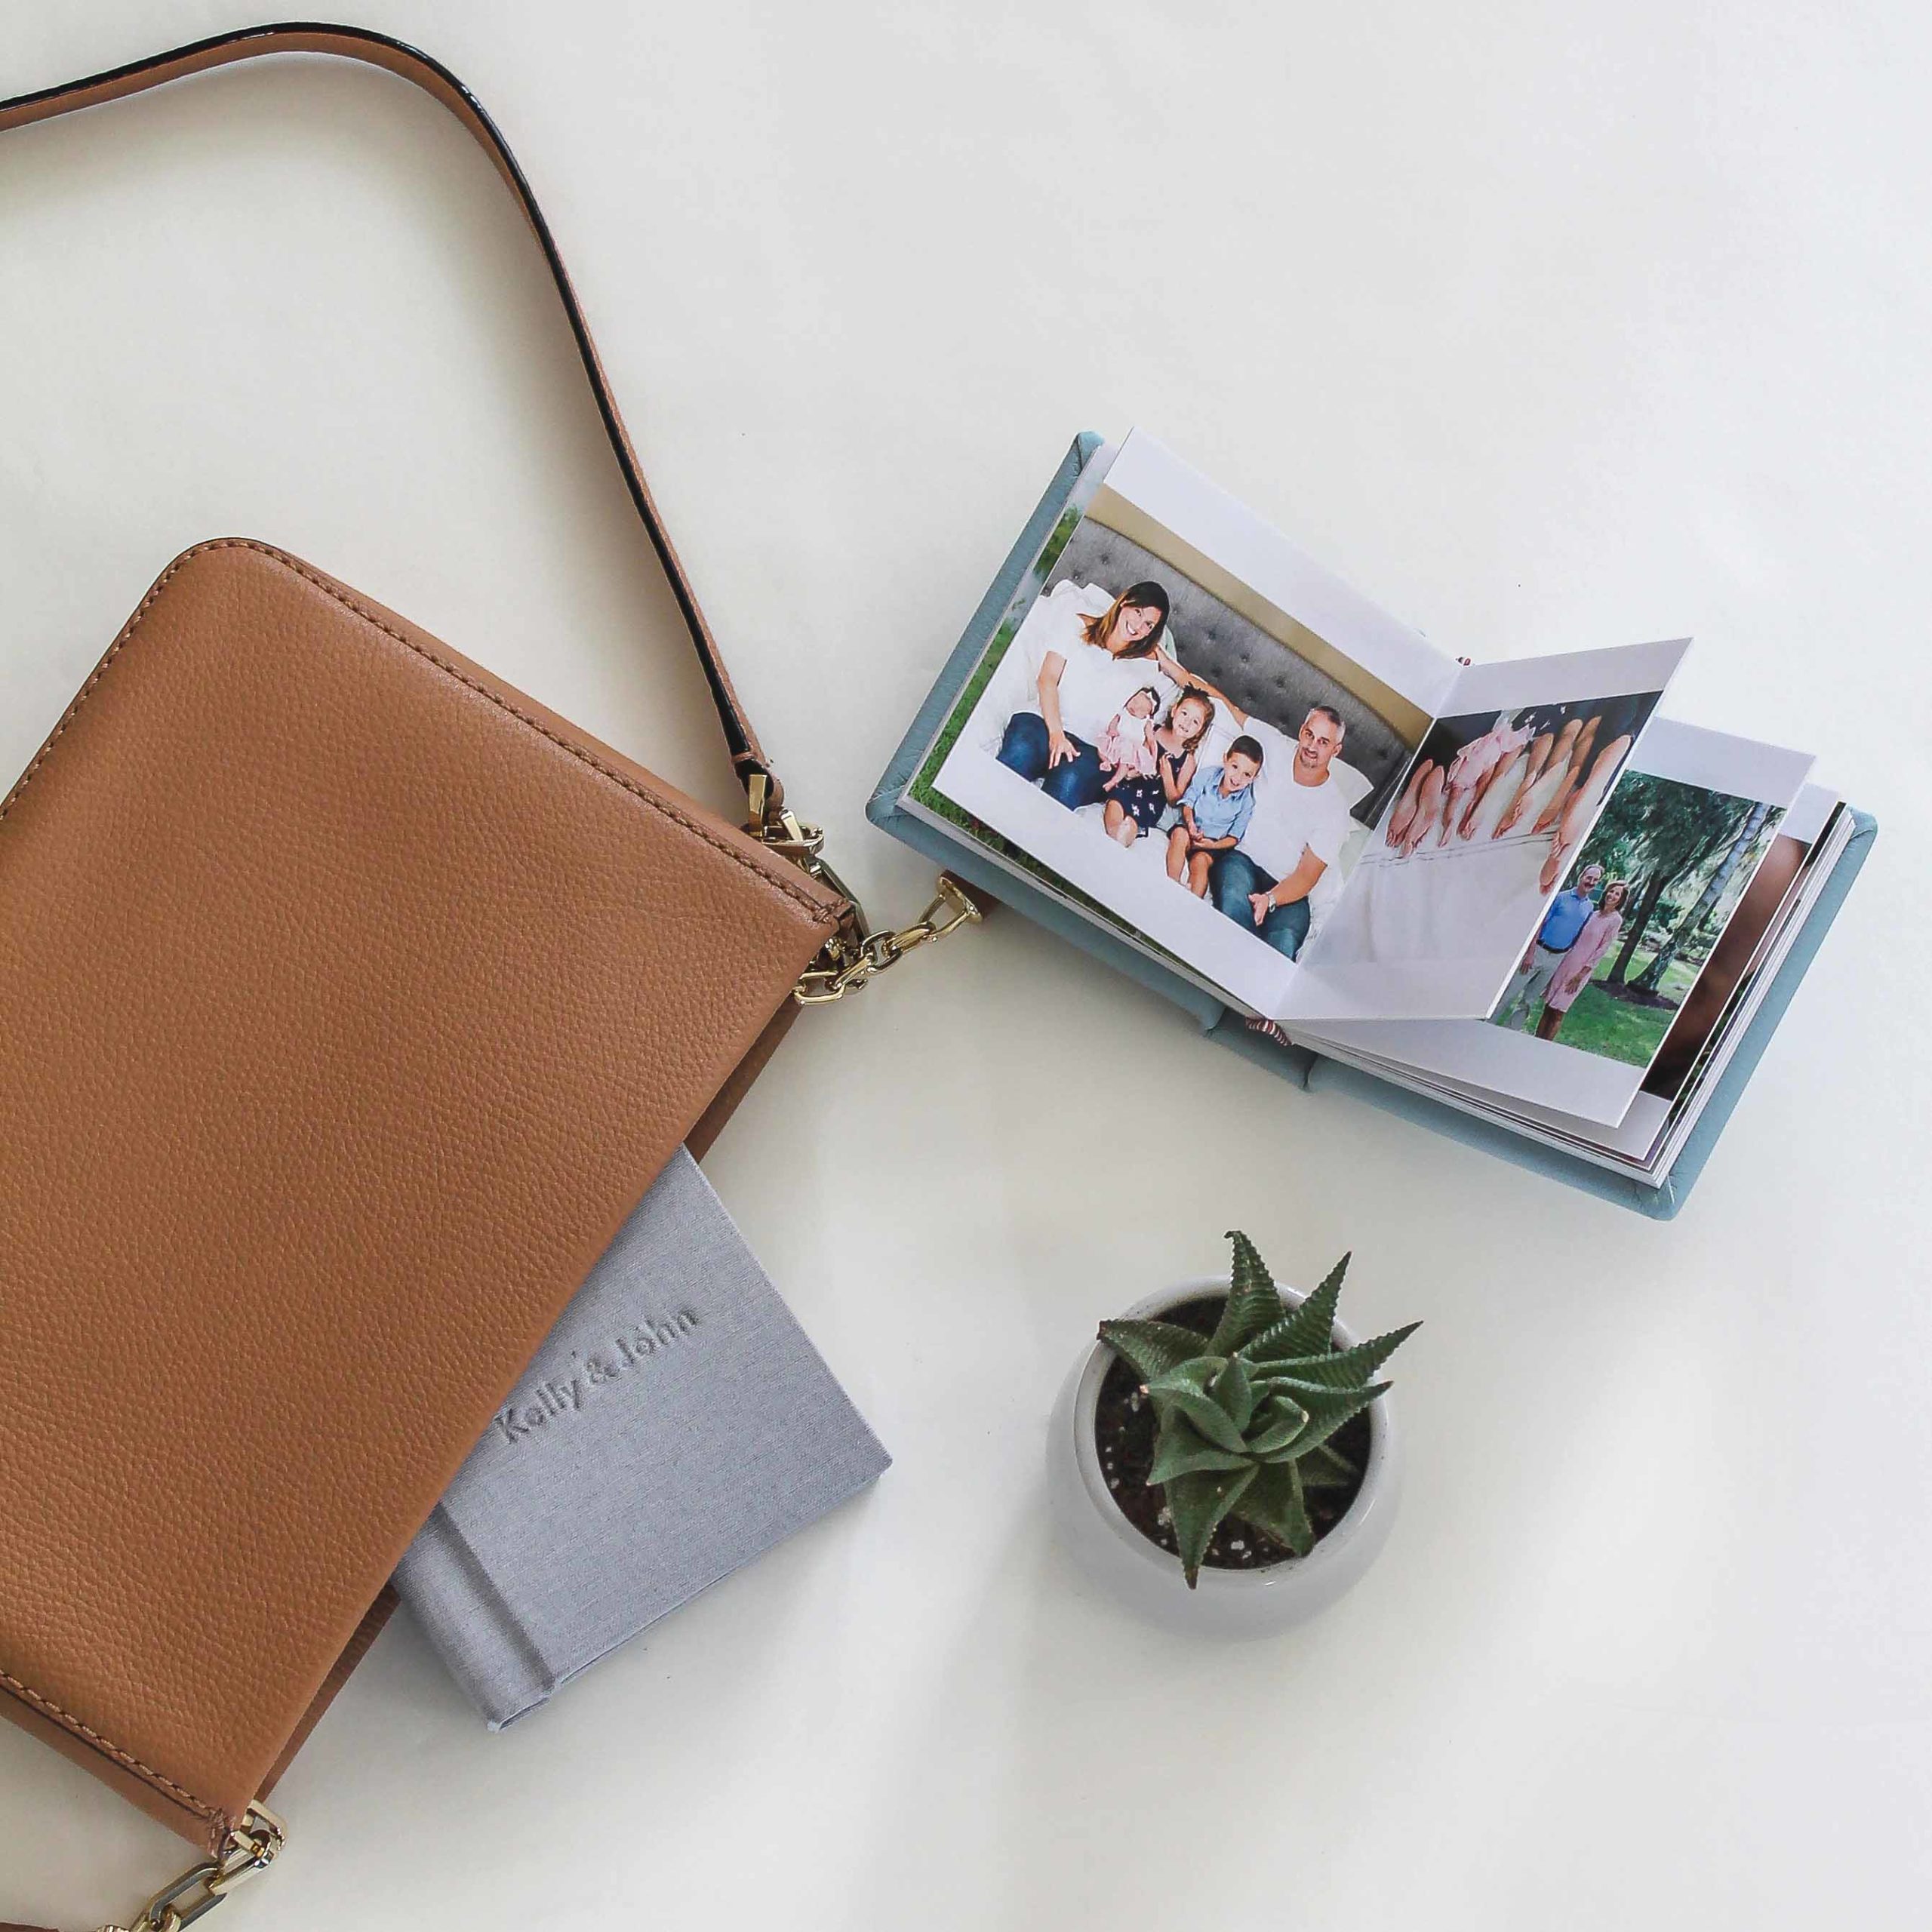
[[[1683,651],[1463,667],[1134,433],[904,806],[1248,1014],[1480,1018]]]

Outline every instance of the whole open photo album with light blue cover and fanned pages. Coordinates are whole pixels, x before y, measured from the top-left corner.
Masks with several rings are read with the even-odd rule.
[[[1660,715],[1683,638],[1459,661],[1138,431],[1051,508],[881,823],[1656,1184],[1853,837],[1810,755]]]

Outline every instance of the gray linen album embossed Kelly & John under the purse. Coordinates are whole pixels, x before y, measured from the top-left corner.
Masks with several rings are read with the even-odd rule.
[[[889,1464],[680,1148],[396,1588],[500,1731]]]

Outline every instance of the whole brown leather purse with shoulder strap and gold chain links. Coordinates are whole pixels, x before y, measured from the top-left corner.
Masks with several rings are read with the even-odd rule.
[[[726,825],[263,543],[176,558],[0,804],[0,1708],[201,1859],[263,1806],[386,1578],[680,1142],[871,933],[732,692],[502,135],[427,54],[257,27],[0,104],[0,129],[325,52],[423,87],[543,247],[709,680]]]

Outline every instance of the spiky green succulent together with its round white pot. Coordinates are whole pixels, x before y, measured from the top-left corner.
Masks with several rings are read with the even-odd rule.
[[[1229,1240],[1231,1281],[1099,1325],[1055,1406],[1049,1490],[1074,1553],[1138,1609],[1260,1636],[1379,1551],[1397,1437],[1374,1376],[1416,1323],[1356,1341],[1335,1316],[1349,1256],[1302,1296],[1246,1235]]]

